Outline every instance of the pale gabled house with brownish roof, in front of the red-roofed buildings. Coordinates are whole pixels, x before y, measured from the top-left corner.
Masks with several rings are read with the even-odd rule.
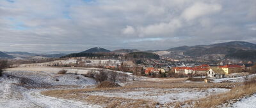
[[[210,67],[207,72],[208,78],[225,78],[225,72],[219,67]]]

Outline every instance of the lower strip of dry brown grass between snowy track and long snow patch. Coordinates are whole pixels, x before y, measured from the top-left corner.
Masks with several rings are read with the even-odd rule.
[[[90,104],[103,105],[105,107],[154,107],[157,102],[140,100],[140,99],[129,99],[121,97],[103,97],[103,96],[94,96],[86,95],[84,93],[71,93],[70,91],[64,92],[48,92],[43,91],[43,95],[50,97],[58,97],[70,100],[78,100],[88,102]]]

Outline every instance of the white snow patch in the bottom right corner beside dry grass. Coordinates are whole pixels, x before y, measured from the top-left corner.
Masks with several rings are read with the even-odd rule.
[[[256,107],[256,93],[251,97],[243,98],[232,105],[235,108],[255,108]]]

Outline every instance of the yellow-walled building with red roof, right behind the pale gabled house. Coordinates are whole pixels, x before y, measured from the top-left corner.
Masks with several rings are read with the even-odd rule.
[[[218,67],[221,68],[225,74],[242,72],[242,66],[240,65],[223,65]]]

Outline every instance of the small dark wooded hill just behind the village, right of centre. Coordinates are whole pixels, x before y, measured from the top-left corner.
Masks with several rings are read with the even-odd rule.
[[[159,55],[148,52],[132,52],[125,55],[125,58],[152,58],[159,59]]]

